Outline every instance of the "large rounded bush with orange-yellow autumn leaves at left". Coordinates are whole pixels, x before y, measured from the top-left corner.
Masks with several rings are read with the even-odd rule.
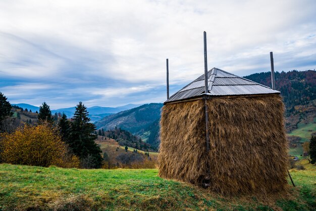
[[[71,154],[58,131],[48,123],[24,125],[12,134],[2,134],[3,162],[47,167],[79,167],[79,158]]]

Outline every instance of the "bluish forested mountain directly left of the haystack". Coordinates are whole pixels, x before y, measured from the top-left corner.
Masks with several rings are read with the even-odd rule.
[[[126,111],[106,116],[100,121],[95,122],[97,129],[112,130],[121,128],[127,130],[132,134],[139,135],[142,140],[147,141],[150,137],[151,132],[159,132],[159,122],[161,116],[162,103],[150,103],[142,106],[132,108]],[[155,126],[153,125],[155,124]],[[147,138],[143,137],[147,135]],[[151,135],[158,137],[156,135]],[[152,143],[156,141],[151,141]]]

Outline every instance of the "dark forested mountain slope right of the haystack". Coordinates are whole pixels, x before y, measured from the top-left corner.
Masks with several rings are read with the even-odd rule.
[[[245,76],[271,87],[271,72]],[[313,70],[275,72],[276,90],[281,92],[286,108],[286,130],[298,128],[298,123],[313,122],[316,117],[316,72]]]

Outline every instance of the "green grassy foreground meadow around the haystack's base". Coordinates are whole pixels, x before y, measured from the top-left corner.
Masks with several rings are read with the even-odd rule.
[[[316,169],[308,166],[291,171],[297,187],[288,194],[223,197],[159,178],[156,169],[0,164],[0,210],[315,210]]]

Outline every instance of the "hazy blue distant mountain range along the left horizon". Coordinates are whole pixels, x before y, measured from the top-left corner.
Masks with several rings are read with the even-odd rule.
[[[23,109],[27,108],[28,110],[32,110],[33,112],[39,111],[39,107],[30,105],[30,104],[26,104],[26,103],[18,103],[18,104],[12,104],[12,105],[17,105]],[[127,105],[118,106],[118,107],[93,106],[93,107],[87,108],[87,110],[89,112],[89,116],[91,118],[91,121],[97,121],[97,120],[100,120],[104,116],[108,116],[108,115],[111,115],[114,113],[118,113],[120,111],[135,108],[135,107],[138,107],[140,105],[142,105],[142,104],[127,104]],[[60,108],[60,109],[56,109],[56,110],[51,110],[52,114],[59,113],[59,112],[61,112],[61,113],[64,112],[68,117],[72,117],[74,115],[74,112],[75,112],[75,107]]]

